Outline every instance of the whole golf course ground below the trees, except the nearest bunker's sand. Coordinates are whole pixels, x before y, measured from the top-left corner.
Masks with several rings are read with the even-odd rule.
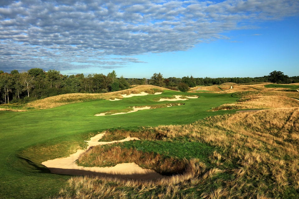
[[[3,109],[0,198],[297,198],[298,84],[267,85],[137,86]],[[88,148],[101,133],[108,143]],[[84,168],[134,163],[159,177],[53,174],[42,164],[77,150]]]

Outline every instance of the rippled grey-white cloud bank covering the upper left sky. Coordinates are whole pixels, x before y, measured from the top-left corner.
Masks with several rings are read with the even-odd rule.
[[[0,1],[0,69],[124,67],[298,11],[298,0]]]

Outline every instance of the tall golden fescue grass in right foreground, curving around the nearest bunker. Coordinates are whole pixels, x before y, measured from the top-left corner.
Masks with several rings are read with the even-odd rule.
[[[168,179],[73,177],[54,198],[299,198],[299,108],[214,116],[134,133],[144,139],[185,137],[215,151],[208,162],[191,159],[184,174]]]

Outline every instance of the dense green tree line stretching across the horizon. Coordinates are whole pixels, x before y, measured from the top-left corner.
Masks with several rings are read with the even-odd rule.
[[[211,86],[233,82],[237,84],[250,84],[254,82],[272,83],[299,83],[299,76],[289,77],[283,72],[273,71],[263,77],[219,77],[200,78],[187,76],[182,78],[164,78],[161,73],[154,73],[150,79],[117,77],[113,70],[107,75],[90,74],[84,76],[62,75],[59,71],[41,68],[31,68],[27,72],[19,73],[12,70],[10,73],[0,71],[0,104],[27,103],[32,100],[42,99],[50,96],[67,93],[106,93],[125,90],[132,85],[155,85],[172,90],[187,91],[195,86]]]

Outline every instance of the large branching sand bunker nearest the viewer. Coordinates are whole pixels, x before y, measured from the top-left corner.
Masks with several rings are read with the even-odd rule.
[[[70,155],[66,158],[57,158],[54,160],[48,160],[42,162],[41,164],[45,165],[50,169],[51,173],[54,174],[68,174],[68,175],[100,175],[100,176],[117,176],[124,178],[132,179],[158,179],[164,178],[164,176],[156,173],[151,169],[142,169],[135,163],[123,163],[117,164],[114,167],[83,167],[76,164],[76,160],[81,154],[87,151],[92,146],[111,144],[115,142],[124,142],[131,140],[139,140],[136,137],[127,137],[123,140],[111,141],[111,142],[99,142],[105,133],[98,134],[89,141],[88,147],[86,150],[78,150],[76,153]]]

